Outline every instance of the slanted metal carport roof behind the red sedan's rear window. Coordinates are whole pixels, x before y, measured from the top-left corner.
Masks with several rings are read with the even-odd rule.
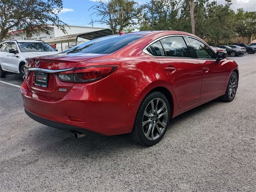
[[[50,38],[50,39],[44,40],[44,42],[48,44],[68,43],[68,42],[76,42],[78,37],[88,39],[88,40],[93,40],[93,39],[103,37],[103,36],[108,36],[108,35],[112,35],[112,31],[110,29],[103,29],[103,30],[98,30],[93,32],[77,33],[77,34],[70,34],[70,35],[65,35],[61,37],[56,37],[56,38]]]

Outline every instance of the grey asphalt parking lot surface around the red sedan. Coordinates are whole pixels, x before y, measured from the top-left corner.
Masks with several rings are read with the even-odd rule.
[[[236,98],[174,118],[152,147],[84,137],[26,116],[16,74],[0,79],[0,191],[255,191],[256,54],[234,59]]]

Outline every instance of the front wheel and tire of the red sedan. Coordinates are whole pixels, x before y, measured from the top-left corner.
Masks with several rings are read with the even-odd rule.
[[[235,81],[235,83],[234,83],[234,81]],[[238,76],[237,76],[236,72],[232,72],[232,74],[230,75],[230,78],[228,80],[226,93],[220,97],[220,100],[226,101],[226,102],[231,102],[232,100],[234,100],[234,98],[236,96],[237,86],[238,86]],[[230,90],[231,88],[232,88],[232,90]],[[230,94],[230,91],[231,91],[231,94]]]

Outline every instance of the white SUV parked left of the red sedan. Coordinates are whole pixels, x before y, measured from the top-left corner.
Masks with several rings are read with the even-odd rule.
[[[25,78],[26,58],[57,54],[49,44],[39,40],[8,40],[0,43],[0,78],[7,72]]]

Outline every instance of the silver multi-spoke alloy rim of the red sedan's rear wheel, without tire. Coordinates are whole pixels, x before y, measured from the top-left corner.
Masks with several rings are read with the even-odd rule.
[[[154,98],[144,111],[142,128],[149,140],[158,139],[166,128],[168,108],[161,98]]]

